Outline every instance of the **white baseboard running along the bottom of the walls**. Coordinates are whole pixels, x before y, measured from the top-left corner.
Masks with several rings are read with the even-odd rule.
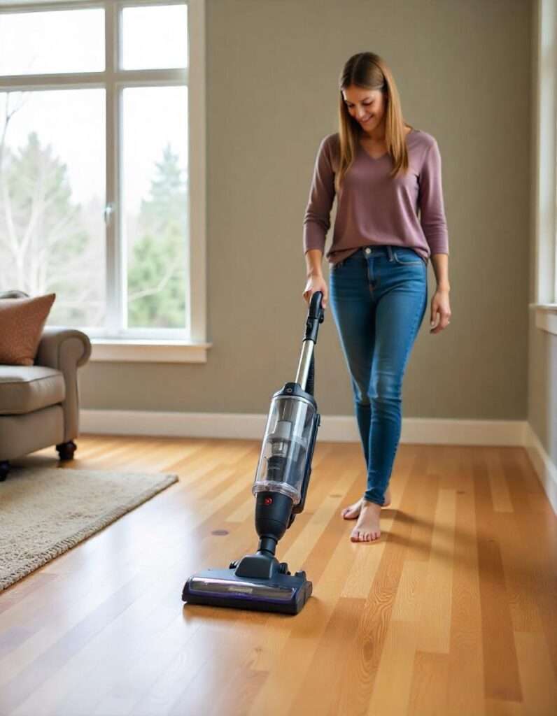
[[[267,414],[81,410],[80,431],[97,435],[222,437],[262,440]],[[321,415],[318,441],[359,442],[356,417]],[[557,468],[525,420],[406,417],[400,442],[424,445],[522,445],[557,514]]]

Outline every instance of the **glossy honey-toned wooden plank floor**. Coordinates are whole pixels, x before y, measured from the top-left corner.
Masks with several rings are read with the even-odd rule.
[[[0,594],[1,716],[557,714],[557,519],[523,448],[399,445],[381,538],[351,543],[361,448],[318,442],[277,550],[303,611],[184,606],[257,546],[259,451],[80,437],[67,467],[180,481]]]

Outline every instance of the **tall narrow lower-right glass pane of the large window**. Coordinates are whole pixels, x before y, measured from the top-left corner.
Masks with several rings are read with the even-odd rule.
[[[128,327],[186,328],[188,89],[123,91]]]

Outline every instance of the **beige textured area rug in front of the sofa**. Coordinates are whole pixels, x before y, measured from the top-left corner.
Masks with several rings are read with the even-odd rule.
[[[14,465],[0,483],[0,591],[177,481],[168,473]]]

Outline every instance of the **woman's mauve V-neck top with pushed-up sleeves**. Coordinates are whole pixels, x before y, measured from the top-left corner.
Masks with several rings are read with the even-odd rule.
[[[391,156],[374,159],[358,144],[337,197],[333,243],[325,254],[330,263],[343,261],[361,246],[406,246],[426,263],[432,253],[449,253],[437,141],[412,129],[406,147],[409,172],[391,178]],[[339,153],[338,132],[321,141],[303,222],[304,253],[310,248],[325,253]]]

